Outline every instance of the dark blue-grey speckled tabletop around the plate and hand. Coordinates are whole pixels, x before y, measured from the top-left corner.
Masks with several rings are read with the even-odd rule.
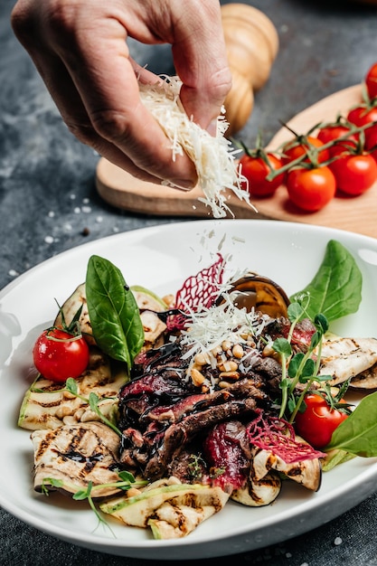
[[[254,0],[276,25],[280,47],[269,83],[256,96],[239,137],[267,141],[298,111],[360,82],[377,61],[377,6],[345,0]],[[0,288],[44,259],[117,231],[176,222],[129,214],[103,203],[95,189],[99,156],[71,137],[9,24],[14,2],[0,3]],[[169,48],[131,51],[156,72],[172,72]],[[180,219],[185,220],[185,219]],[[2,462],[1,465],[5,465]],[[377,490],[377,486],[376,486]],[[315,531],[234,558],[239,564],[335,566],[377,564],[377,495]],[[156,556],[158,559],[158,556]],[[208,566],[219,559],[200,561]],[[147,566],[55,540],[0,509],[1,566]],[[162,561],[153,561],[162,564]],[[188,563],[182,561],[182,564]]]

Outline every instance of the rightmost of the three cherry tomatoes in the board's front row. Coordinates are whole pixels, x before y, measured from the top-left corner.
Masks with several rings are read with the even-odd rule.
[[[365,193],[377,181],[377,163],[369,154],[344,155],[330,165],[336,187],[346,194]]]

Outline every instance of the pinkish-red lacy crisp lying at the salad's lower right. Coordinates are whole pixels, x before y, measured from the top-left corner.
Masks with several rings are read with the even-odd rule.
[[[262,450],[269,450],[287,464],[325,457],[323,452],[310,444],[297,441],[295,430],[287,420],[263,415],[261,412],[248,425],[247,434],[251,444]]]

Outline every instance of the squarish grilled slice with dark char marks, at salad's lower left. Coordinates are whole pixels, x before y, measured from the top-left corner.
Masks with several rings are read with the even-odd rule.
[[[42,486],[56,490],[53,480],[60,480],[60,491],[75,494],[90,482],[101,486],[119,481],[119,437],[101,422],[86,422],[62,426],[53,430],[34,430],[31,434],[34,450],[34,489]],[[92,497],[117,495],[117,487],[92,489]]]

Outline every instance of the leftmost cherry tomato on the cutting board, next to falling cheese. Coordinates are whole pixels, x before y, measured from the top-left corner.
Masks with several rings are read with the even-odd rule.
[[[251,196],[269,196],[275,193],[278,186],[284,183],[285,174],[281,173],[271,181],[266,177],[281,166],[281,160],[273,154],[266,154],[266,159],[258,154],[245,154],[240,158],[240,173],[248,181],[247,184],[244,183],[244,188],[248,188]]]

